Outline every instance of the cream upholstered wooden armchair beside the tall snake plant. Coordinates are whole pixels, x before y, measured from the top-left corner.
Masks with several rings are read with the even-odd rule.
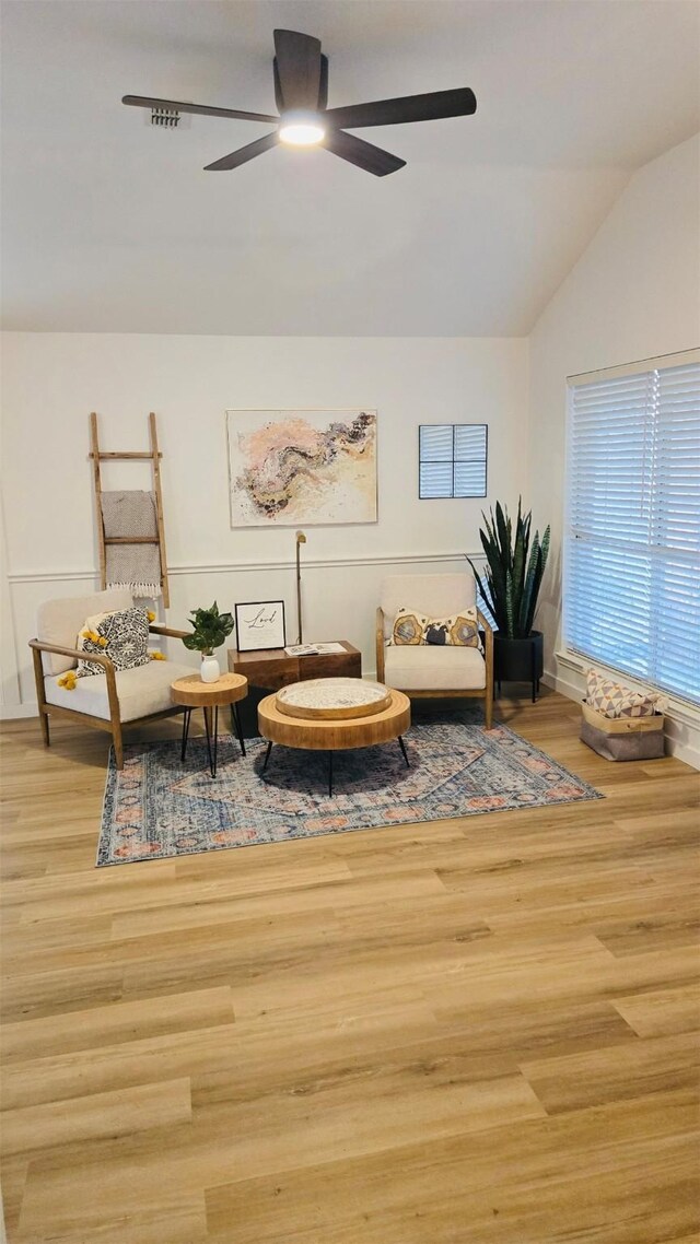
[[[493,634],[480,610],[483,654],[478,648],[452,644],[389,643],[401,608],[445,618],[475,607],[476,582],[471,572],[385,578],[376,615],[376,675],[380,683],[411,698],[480,697],[485,700],[486,729],[490,730],[493,720]]]

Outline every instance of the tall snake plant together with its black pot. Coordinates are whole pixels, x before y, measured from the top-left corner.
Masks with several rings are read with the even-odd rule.
[[[521,513],[516,532],[508,510],[496,503],[496,516],[491,510],[491,521],[482,513],[486,530],[480,530],[481,542],[486,554],[486,572],[483,580],[472,562],[480,593],[486,601],[496,622],[493,634],[493,667],[496,680],[532,682],[532,698],[543,672],[542,631],[533,631],[534,611],[542,585],[542,576],[549,552],[549,526],[542,540],[539,531],[534,532],[531,546],[532,511]]]

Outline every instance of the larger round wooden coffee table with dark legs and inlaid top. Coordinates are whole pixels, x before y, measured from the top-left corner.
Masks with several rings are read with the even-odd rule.
[[[314,683],[318,685],[314,687]],[[359,684],[355,703],[349,683]],[[338,687],[334,688],[334,684]],[[409,765],[402,734],[410,724],[409,697],[381,683],[362,683],[359,678],[319,678],[293,683],[274,695],[267,695],[258,705],[258,728],[268,740],[263,773],[268,766],[273,743],[308,751],[328,751],[328,792],[333,795],[334,751],[371,748],[397,739]]]

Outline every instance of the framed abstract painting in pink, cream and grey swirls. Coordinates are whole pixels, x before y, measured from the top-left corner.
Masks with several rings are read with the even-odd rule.
[[[227,411],[232,527],[377,521],[376,411]]]

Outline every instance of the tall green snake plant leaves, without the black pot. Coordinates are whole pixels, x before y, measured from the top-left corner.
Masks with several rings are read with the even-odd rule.
[[[491,510],[491,521],[483,511],[482,518],[486,525],[486,530],[480,530],[487,559],[485,577],[480,576],[471,557],[467,561],[498,633],[508,639],[524,639],[532,632],[537,597],[547,565],[549,526],[542,540],[539,531],[534,532],[531,549],[532,510],[523,515],[521,500],[518,500],[514,541],[508,510],[499,501],[496,503],[496,516]]]

